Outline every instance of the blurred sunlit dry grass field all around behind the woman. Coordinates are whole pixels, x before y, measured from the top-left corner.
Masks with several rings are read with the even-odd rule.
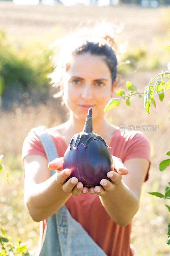
[[[42,40],[44,44],[50,43],[56,35],[62,35],[70,28],[76,28],[80,22],[104,18],[107,21],[117,20],[125,23],[122,37],[129,41],[131,47],[144,45],[149,51],[155,52],[161,58],[160,69],[151,71],[134,70],[125,77],[120,78],[121,88],[125,88],[126,81],[132,82],[140,92],[150,79],[161,70],[166,70],[169,56],[165,54],[167,40],[166,16],[167,10],[143,9],[136,6],[117,7],[85,7],[76,5],[64,7],[60,4],[54,7],[46,6],[15,6],[11,1],[0,1],[0,29],[6,32],[11,42],[25,47],[35,40]],[[164,17],[165,18],[165,17]],[[161,25],[164,26],[161,27]],[[161,43],[160,43],[161,42]],[[31,220],[23,204],[24,180],[21,167],[22,143],[31,128],[45,125],[47,128],[55,127],[68,118],[66,108],[60,106],[60,99],[53,99],[55,89],[51,88],[50,97],[38,106],[24,104],[18,106],[15,102],[10,110],[0,111],[0,155],[4,155],[3,163],[9,171],[8,185],[5,170],[1,172],[0,179],[0,225],[13,238],[21,237],[28,242],[28,248],[34,251],[39,236],[39,224]],[[25,95],[26,96],[26,95]],[[152,165],[149,180],[142,188],[140,210],[133,220],[131,242],[135,247],[135,256],[167,256],[169,246],[166,245],[168,210],[164,206],[164,199],[147,194],[147,192],[164,192],[168,184],[167,168],[159,172],[159,163],[166,157],[169,147],[169,108],[170,90],[166,91],[161,102],[158,98],[156,108],[150,107],[151,115],[147,114],[143,106],[143,98],[136,96],[131,100],[131,106],[125,102],[106,113],[113,124],[128,125],[159,125],[157,132],[146,131],[144,134],[151,143]],[[23,100],[29,100],[27,96]],[[10,104],[10,103],[9,103]],[[168,202],[166,202],[167,204]]]

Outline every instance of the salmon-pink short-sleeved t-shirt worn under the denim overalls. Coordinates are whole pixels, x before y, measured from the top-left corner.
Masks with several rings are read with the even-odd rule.
[[[61,134],[55,127],[47,129],[47,131],[55,143],[58,156],[64,156],[67,145],[65,144]],[[121,132],[118,127],[113,135],[110,145],[108,146],[111,147],[109,148],[111,155],[119,157],[123,163],[127,159],[133,157],[144,157],[148,159],[151,164],[150,143],[142,132]],[[23,143],[23,170],[23,159],[27,155],[41,155],[46,157],[44,148],[39,138],[34,133],[28,134]],[[145,181],[148,179],[148,172],[145,177]],[[65,205],[71,216],[82,225],[92,239],[108,256],[133,255],[129,246],[131,223],[125,227],[117,225],[106,212],[97,194],[93,195],[88,193],[85,195],[81,193],[79,196],[70,196]],[[40,222],[39,249],[41,249],[41,241],[45,225],[46,220]]]

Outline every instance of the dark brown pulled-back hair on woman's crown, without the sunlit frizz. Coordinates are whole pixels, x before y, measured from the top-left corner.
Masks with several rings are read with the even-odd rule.
[[[101,56],[102,59],[106,62],[108,68],[110,69],[112,75],[112,83],[115,81],[117,74],[117,59],[113,49],[109,45],[107,45],[106,43],[102,44],[85,41],[83,45],[81,45],[72,52],[72,56],[84,53]],[[69,66],[70,65],[68,64],[66,70],[69,68]]]

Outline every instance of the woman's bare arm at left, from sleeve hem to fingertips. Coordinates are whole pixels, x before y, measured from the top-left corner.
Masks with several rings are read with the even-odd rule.
[[[24,158],[25,185],[24,185],[24,203],[31,217],[35,221],[47,219],[57,212],[63,204],[73,194],[80,194],[83,184],[71,182],[69,169],[60,171],[62,168],[63,157],[56,158],[51,163],[52,170],[58,170],[50,177],[48,161],[43,156],[29,155]],[[50,165],[50,164],[49,164]],[[76,185],[80,185],[78,189]]]

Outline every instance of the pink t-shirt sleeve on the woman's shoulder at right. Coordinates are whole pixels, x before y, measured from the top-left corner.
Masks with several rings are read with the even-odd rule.
[[[148,180],[149,169],[151,165],[151,147],[149,140],[141,133],[131,134],[127,141],[127,147],[124,152],[123,162],[134,157],[143,157],[148,159],[149,167],[145,177],[145,180]]]

